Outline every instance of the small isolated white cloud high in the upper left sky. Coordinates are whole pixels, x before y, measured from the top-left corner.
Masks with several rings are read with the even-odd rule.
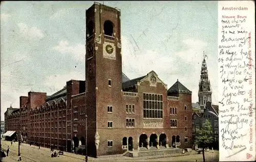
[[[35,26],[31,28],[28,27],[25,23],[18,23],[19,31],[26,38],[44,38],[44,33],[41,30],[37,29]]]

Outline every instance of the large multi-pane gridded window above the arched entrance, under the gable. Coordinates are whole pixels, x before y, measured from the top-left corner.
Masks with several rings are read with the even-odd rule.
[[[143,118],[163,118],[162,95],[143,94]]]

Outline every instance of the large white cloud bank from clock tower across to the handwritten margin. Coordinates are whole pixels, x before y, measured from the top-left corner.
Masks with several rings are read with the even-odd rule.
[[[176,81],[187,87],[192,94],[192,101],[198,101],[199,79],[203,60],[203,51],[207,49],[207,43],[201,40],[187,39],[182,41],[186,48],[174,53],[160,53],[156,50],[138,51],[129,38],[122,36],[122,71],[130,79],[146,75],[154,70],[160,79],[170,88]],[[215,72],[217,62],[212,61],[215,53],[209,53],[207,63],[208,75],[211,81],[212,102],[218,101],[218,73]],[[216,64],[212,64],[216,62]]]

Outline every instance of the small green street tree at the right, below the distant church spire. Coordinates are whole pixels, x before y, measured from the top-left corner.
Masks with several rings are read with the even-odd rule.
[[[203,127],[201,129],[197,129],[197,135],[195,139],[195,144],[198,147],[201,147],[203,150],[203,161],[205,162],[204,149],[214,142],[214,138],[212,136],[212,127],[209,123],[208,119],[203,123]]]

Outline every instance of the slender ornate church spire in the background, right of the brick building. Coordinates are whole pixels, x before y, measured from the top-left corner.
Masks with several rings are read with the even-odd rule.
[[[208,79],[208,71],[205,58],[206,55],[204,54],[198,91],[199,105],[201,109],[204,109],[206,102],[211,102],[210,80]]]

